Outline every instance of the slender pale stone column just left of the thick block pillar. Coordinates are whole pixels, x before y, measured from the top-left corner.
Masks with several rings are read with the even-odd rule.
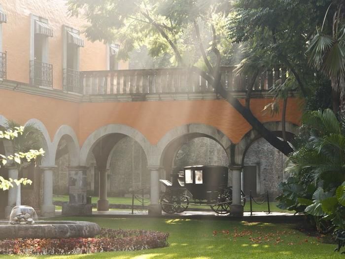
[[[55,205],[53,205],[53,172],[56,166],[40,166],[43,170],[43,204],[41,215],[43,217],[55,216]]]

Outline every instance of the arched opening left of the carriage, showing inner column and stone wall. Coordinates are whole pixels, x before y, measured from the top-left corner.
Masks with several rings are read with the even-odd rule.
[[[127,134],[108,133],[97,138],[89,148],[85,165],[91,192],[99,197],[97,209],[100,211],[109,208],[108,194],[129,196],[132,190],[143,187],[149,193],[146,152]]]

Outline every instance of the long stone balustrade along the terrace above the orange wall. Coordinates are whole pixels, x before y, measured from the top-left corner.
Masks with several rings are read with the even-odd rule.
[[[221,81],[228,91],[244,91],[249,77],[238,75],[235,67],[221,68]],[[279,66],[263,71],[257,77],[254,91],[268,90],[279,78],[286,78],[288,70]],[[80,72],[80,85],[84,94],[146,94],[214,92],[214,88],[201,75],[190,69],[147,69]]]

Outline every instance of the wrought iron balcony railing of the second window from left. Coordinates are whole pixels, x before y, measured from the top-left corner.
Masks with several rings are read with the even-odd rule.
[[[53,65],[38,60],[31,60],[30,84],[53,87]]]

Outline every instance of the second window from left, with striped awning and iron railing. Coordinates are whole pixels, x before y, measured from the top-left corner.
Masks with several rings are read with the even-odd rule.
[[[53,87],[53,66],[48,64],[48,37],[53,30],[48,20],[31,15],[30,83]]]

